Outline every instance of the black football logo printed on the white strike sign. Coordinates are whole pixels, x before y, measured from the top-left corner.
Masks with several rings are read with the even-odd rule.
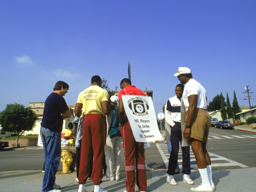
[[[135,97],[132,99],[129,99],[129,108],[132,110],[132,113],[136,116],[146,116],[148,114],[148,102],[141,98],[141,97]]]

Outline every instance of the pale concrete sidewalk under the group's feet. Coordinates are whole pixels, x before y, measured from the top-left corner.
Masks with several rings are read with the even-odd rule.
[[[1,192],[40,192],[42,189],[42,180],[44,173],[40,170],[16,170],[0,171],[0,191]],[[186,192],[191,187],[197,187],[201,183],[198,170],[191,173],[194,185],[188,185],[183,182],[183,174],[174,176],[177,186],[166,182],[165,169],[156,169],[147,171],[147,191],[155,192]],[[255,191],[256,167],[243,169],[213,170],[212,177],[216,185],[215,192],[252,192]],[[75,181],[76,173],[56,174],[56,184],[61,185],[63,192],[78,192],[79,184]],[[101,187],[110,192],[125,191],[125,170],[121,170],[119,181],[103,181]],[[94,191],[92,181],[86,184],[87,192]],[[135,191],[138,187],[135,187]]]

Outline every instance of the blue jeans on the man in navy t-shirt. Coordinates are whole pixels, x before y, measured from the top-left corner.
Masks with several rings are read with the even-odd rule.
[[[41,127],[40,136],[45,153],[45,174],[42,192],[48,192],[54,189],[55,175],[60,165],[61,132],[50,131],[50,129]]]

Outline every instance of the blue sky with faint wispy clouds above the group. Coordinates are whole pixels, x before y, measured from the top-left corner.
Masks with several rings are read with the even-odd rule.
[[[128,77],[153,90],[158,114],[188,67],[208,101],[221,91],[256,105],[255,0],[0,0],[0,111],[7,103],[45,101],[69,84],[68,105],[93,75],[114,89]]]

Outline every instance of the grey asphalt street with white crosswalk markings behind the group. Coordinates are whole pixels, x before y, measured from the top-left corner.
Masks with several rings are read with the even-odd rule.
[[[207,150],[212,159],[212,169],[236,169],[256,166],[256,134],[234,129],[211,127]],[[181,151],[180,151],[181,152]],[[121,147],[124,169],[124,149]],[[151,144],[145,149],[146,163],[153,168],[166,169],[169,159],[167,146],[164,143]],[[179,165],[182,158],[179,154]],[[8,150],[0,151],[0,170],[42,170],[44,150]],[[196,168],[195,157],[191,151],[191,167]],[[60,162],[59,169],[62,169]]]

